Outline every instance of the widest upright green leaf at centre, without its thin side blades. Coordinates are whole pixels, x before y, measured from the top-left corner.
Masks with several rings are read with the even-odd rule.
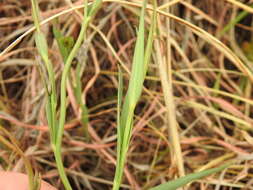
[[[129,146],[130,134],[132,129],[133,115],[136,103],[142,91],[142,81],[144,76],[144,16],[147,1],[143,2],[141,10],[139,29],[135,44],[132,72],[129,81],[129,87],[120,115],[120,126],[118,126],[118,147],[117,147],[117,166],[114,177],[113,190],[118,190],[121,184],[126,153]]]

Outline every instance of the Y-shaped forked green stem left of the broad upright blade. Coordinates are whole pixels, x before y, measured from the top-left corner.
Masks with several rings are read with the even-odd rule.
[[[33,19],[36,26],[36,34],[35,41],[38,51],[45,63],[47,74],[49,81],[47,81],[47,76],[42,74],[43,80],[45,81],[45,87],[47,91],[48,101],[46,107],[48,124],[50,126],[50,137],[51,137],[51,145],[55,155],[56,165],[59,171],[59,175],[61,180],[67,190],[71,190],[71,185],[68,181],[66,173],[64,171],[64,166],[61,158],[61,146],[62,146],[62,136],[64,132],[64,124],[66,117],[66,82],[68,78],[68,73],[72,64],[72,61],[77,54],[78,49],[80,48],[83,40],[86,37],[86,30],[89,26],[90,21],[97,13],[102,0],[96,0],[91,7],[88,7],[88,1],[84,0],[84,18],[81,26],[81,31],[77,38],[76,43],[74,44],[71,51],[66,47],[60,46],[63,59],[64,59],[64,68],[62,71],[61,77],[61,87],[60,87],[60,116],[59,122],[56,116],[56,108],[57,108],[57,95],[56,95],[56,84],[55,84],[55,76],[53,65],[48,56],[48,48],[47,42],[44,34],[41,32],[39,25],[39,7],[36,0],[32,0],[32,8],[33,8]],[[57,35],[57,31],[55,31]],[[60,35],[58,33],[58,35]],[[59,42],[58,42],[59,43]],[[61,44],[61,43],[60,43]],[[43,70],[43,69],[41,69]],[[42,73],[42,72],[41,72]]]

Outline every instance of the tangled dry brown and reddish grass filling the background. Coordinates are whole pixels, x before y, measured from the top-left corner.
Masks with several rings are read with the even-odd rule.
[[[57,25],[64,34],[76,39],[81,22],[76,6],[80,8],[81,2],[40,1],[45,20],[42,29],[47,36],[57,88],[63,62],[53,38],[52,18],[57,17]],[[252,60],[241,47],[245,42],[252,43],[252,31],[248,29],[252,26],[253,9],[243,1],[232,0],[158,2],[156,45],[144,93],[135,111],[123,187],[148,189],[183,175],[183,170],[188,174],[236,160],[229,169],[187,188],[252,189],[253,69]],[[169,5],[170,12],[166,13]],[[75,63],[71,68],[62,151],[75,190],[112,187],[116,164],[117,63],[124,64],[126,83],[136,39],[138,6],[138,1],[106,1],[75,58],[75,62],[87,61],[82,97],[89,110],[90,140],[81,127],[73,91]],[[242,9],[250,14],[220,37],[223,27]],[[0,2],[0,15],[0,125],[19,143],[34,170],[62,189],[49,143],[45,89],[37,69],[41,59],[34,48],[30,1]],[[169,22],[166,18],[170,18]],[[171,52],[167,52],[168,47]],[[165,62],[171,62],[171,66],[164,66]],[[159,64],[168,68],[165,74],[172,76],[165,83],[160,81],[163,75]],[[164,96],[166,90],[171,92],[170,87],[173,94]],[[167,110],[171,108],[173,112],[168,116]],[[172,125],[177,127],[178,137],[168,130]],[[1,135],[10,140],[4,133]],[[171,136],[178,138],[181,147],[173,145]],[[175,159],[171,151],[175,146],[182,151],[183,166],[177,163],[180,157]],[[24,171],[22,158],[8,147],[1,145],[0,158],[2,170]]]

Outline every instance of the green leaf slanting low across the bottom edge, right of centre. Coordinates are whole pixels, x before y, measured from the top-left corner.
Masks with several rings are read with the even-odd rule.
[[[206,177],[208,175],[211,175],[213,173],[217,173],[220,172],[222,170],[224,170],[225,168],[227,168],[229,164],[225,164],[223,166],[217,167],[217,168],[212,168],[209,170],[204,170],[198,173],[193,173],[193,174],[189,174],[187,176],[181,177],[179,179],[158,185],[154,188],[151,188],[150,190],[176,190],[177,188],[183,187],[184,185],[186,185],[189,182],[192,182],[194,180],[198,180],[200,178]]]

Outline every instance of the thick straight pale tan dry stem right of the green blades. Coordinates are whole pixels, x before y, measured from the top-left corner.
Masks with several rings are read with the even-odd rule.
[[[169,73],[167,72],[165,57],[161,54],[161,48],[159,40],[155,40],[155,49],[156,49],[156,58],[159,66],[159,72],[161,76],[162,89],[164,94],[164,101],[167,109],[168,117],[168,130],[171,137],[171,143],[173,147],[173,152],[175,153],[175,159],[177,161],[177,167],[180,176],[184,176],[184,165],[183,165],[183,156],[179,141],[179,134],[177,130],[177,121],[175,115],[175,105],[173,101],[172,94],[172,81],[168,79]],[[169,68],[171,69],[171,68]],[[170,76],[171,78],[171,76]],[[174,160],[174,159],[173,159]]]

